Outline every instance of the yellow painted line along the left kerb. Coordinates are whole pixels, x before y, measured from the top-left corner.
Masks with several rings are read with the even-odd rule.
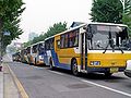
[[[8,64],[7,64],[8,65]],[[12,76],[13,76],[13,79],[19,88],[19,91],[20,91],[20,95],[22,96],[22,98],[29,98],[24,89],[24,87],[22,86],[21,82],[19,81],[19,78],[16,77],[16,75],[14,74],[14,72],[10,69],[10,66],[8,65]]]

